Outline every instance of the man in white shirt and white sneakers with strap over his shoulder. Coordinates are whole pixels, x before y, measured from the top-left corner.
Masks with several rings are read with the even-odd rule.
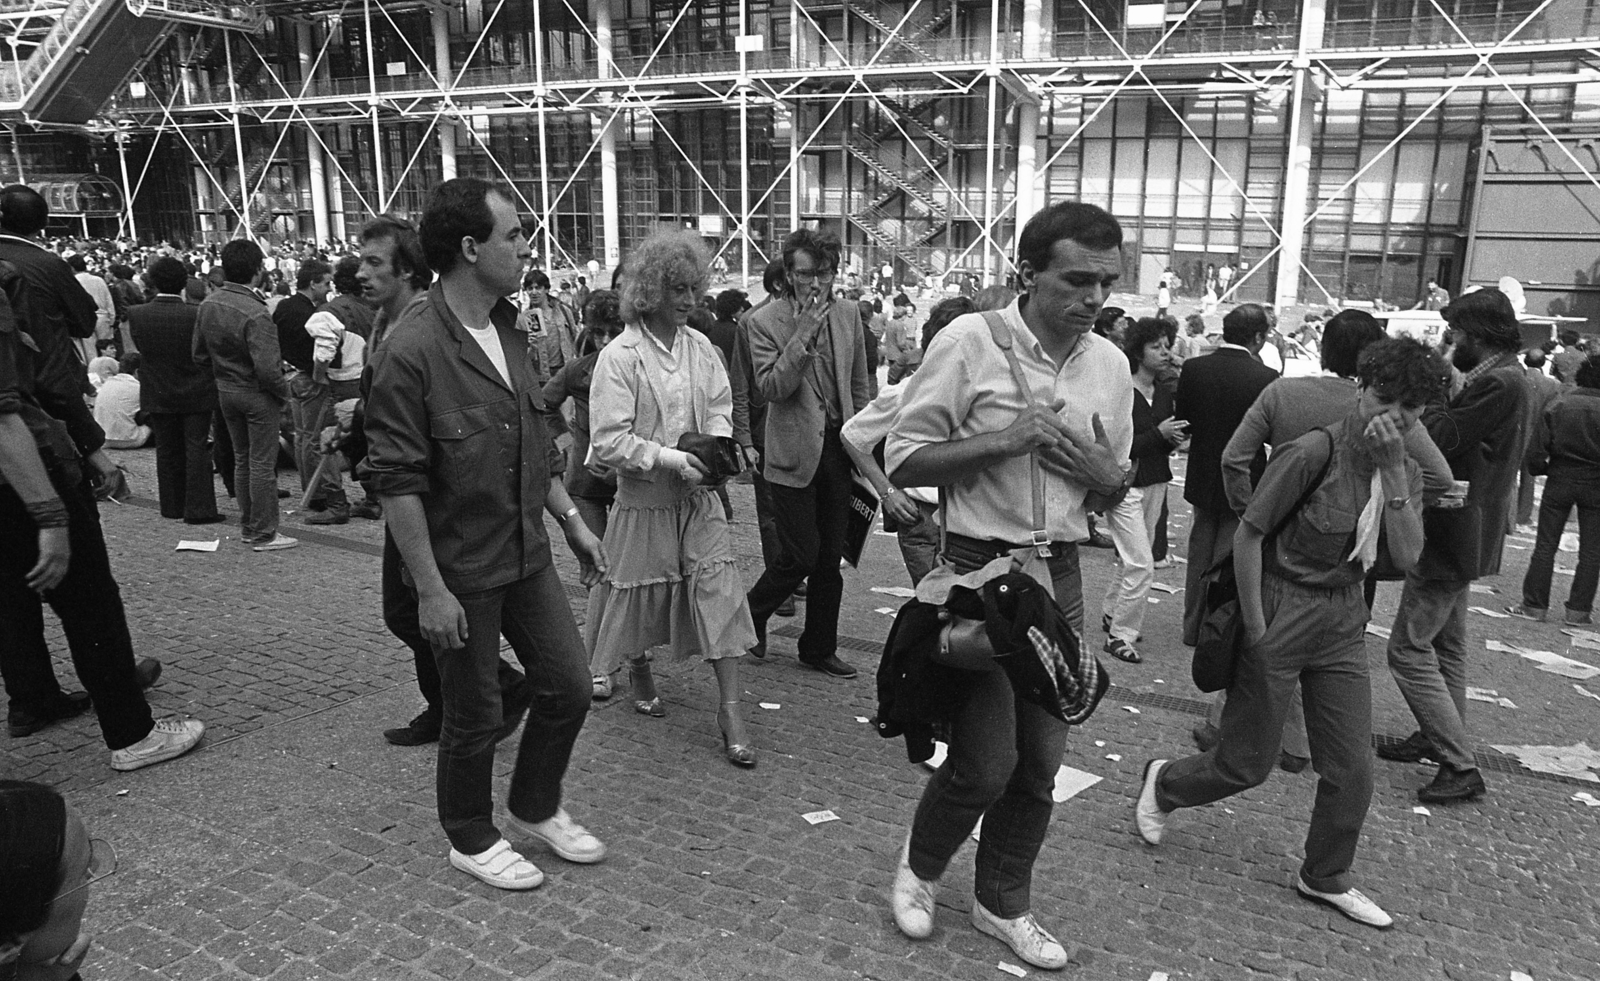
[[[1085,499],[1106,506],[1126,491],[1133,442],[1128,360],[1091,333],[1122,275],[1122,226],[1061,202],[1027,222],[1018,254],[1024,294],[989,314],[994,323],[970,314],[939,331],[907,382],[885,462],[898,486],[942,488],[954,571],[1014,552],[1048,562],[1082,650]],[[933,933],[939,879],[982,818],[973,927],[1034,967],[1062,968],[1066,947],[1034,917],[1030,887],[1067,725],[1002,671],[970,677],[899,855],[894,923],[914,939]]]

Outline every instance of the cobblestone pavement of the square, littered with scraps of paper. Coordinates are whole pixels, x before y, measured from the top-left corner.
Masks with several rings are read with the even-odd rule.
[[[154,495],[152,454],[122,458],[136,488]],[[749,488],[734,485],[733,499],[742,571],[754,579]],[[226,498],[224,507],[235,514]],[[102,514],[138,650],[166,664],[152,703],[158,714],[205,720],[208,736],[182,760],[128,775],[109,768],[90,719],[0,743],[5,773],[59,786],[120,853],[118,874],[94,887],[88,981],[931,981],[1003,978],[1000,962],[1018,963],[966,923],[971,848],[946,877],[931,939],[907,941],[890,919],[894,859],[926,776],[901,743],[862,723],[890,624],[878,610],[899,605],[869,587],[906,584],[891,539],[874,538],[864,568],[846,578],[842,653],[862,669],[858,679],[803,671],[792,643],[798,621],[778,627],[773,656],[746,669],[762,757],[741,771],[720,755],[710,672],[662,658],[667,717],[640,717],[624,698],[597,706],[568,779],[571,811],[610,856],[571,866],[533,848],[549,880],[509,895],[446,864],[432,747],[398,749],[379,736],[419,698],[410,655],[379,623],[376,523],[310,530],[288,515],[283,530],[302,546],[258,555],[232,525],[165,522],[147,499]],[[216,530],[214,554],[173,551],[179,538]],[[558,557],[571,573],[560,547]],[[1478,597],[1483,605],[1515,599],[1526,557],[1507,551],[1507,573],[1490,583],[1501,594]],[[1573,559],[1562,554],[1560,565]],[[1107,568],[1107,554],[1086,551],[1090,623]],[[1181,570],[1160,581],[1181,586]],[[1374,623],[1390,623],[1397,595],[1394,586],[1381,591]],[[1397,919],[1395,930],[1376,933],[1288,888],[1310,773],[1277,773],[1253,792],[1184,811],[1158,850],[1134,835],[1144,760],[1189,751],[1203,711],[1174,642],[1181,597],[1152,597],[1160,602],[1146,624],[1146,663],[1109,661],[1117,687],[1069,744],[1066,762],[1104,779],[1056,807],[1035,871],[1034,907],[1072,951],[1066,975],[1600,976],[1600,808],[1571,800],[1600,787],[1534,775],[1488,749],[1597,741],[1600,701],[1514,655],[1482,651],[1488,637],[1566,650],[1554,626],[1472,616],[1482,651],[1474,683],[1517,706],[1472,704],[1486,799],[1419,815],[1413,794],[1429,768],[1378,763],[1355,869]],[[51,643],[62,651],[59,632]],[[1403,736],[1411,720],[1376,639],[1370,656],[1379,738]],[[64,658],[58,672],[70,685]],[[502,763],[499,794],[504,781]],[[822,808],[840,819],[800,818]]]

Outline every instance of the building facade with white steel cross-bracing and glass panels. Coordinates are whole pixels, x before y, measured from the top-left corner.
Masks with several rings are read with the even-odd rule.
[[[1411,306],[1429,280],[1515,275],[1530,312],[1600,314],[1597,0],[0,0],[0,170],[54,187],[67,232],[347,240],[472,174],[515,189],[555,269],[611,267],[667,222],[758,278],[819,226],[862,277],[992,282],[1034,211],[1082,198],[1122,219],[1133,291],[1229,266],[1237,299]]]

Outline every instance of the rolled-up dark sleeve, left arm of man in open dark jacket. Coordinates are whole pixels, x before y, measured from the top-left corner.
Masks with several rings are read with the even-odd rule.
[[[427,403],[427,371],[405,357],[384,349],[373,360],[373,389],[366,395],[366,470],[379,495],[426,495],[430,438]]]

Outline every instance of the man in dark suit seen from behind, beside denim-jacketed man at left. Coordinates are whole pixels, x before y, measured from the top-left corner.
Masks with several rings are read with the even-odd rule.
[[[155,299],[128,307],[128,333],[144,355],[139,411],[155,432],[155,486],[163,519],[189,525],[221,522],[211,480],[211,411],[216,378],[195,363],[194,334],[200,307],[184,302],[184,264],[160,256],[146,270]]]

